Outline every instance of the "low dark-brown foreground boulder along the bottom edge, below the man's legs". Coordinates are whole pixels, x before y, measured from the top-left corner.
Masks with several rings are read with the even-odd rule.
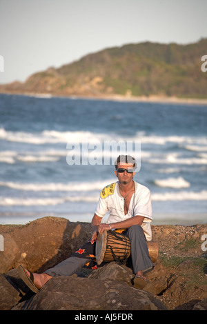
[[[54,277],[12,310],[166,310],[149,292],[127,283],[75,276]]]

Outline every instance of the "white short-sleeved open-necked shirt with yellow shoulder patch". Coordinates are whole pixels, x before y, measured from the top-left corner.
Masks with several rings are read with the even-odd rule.
[[[119,192],[119,182],[107,185],[101,191],[99,202],[95,214],[103,217],[108,211],[107,223],[117,223],[125,221],[133,216],[144,216],[144,221],[141,227],[144,230],[146,240],[152,239],[152,230],[150,222],[152,221],[152,205],[150,190],[144,185],[135,182],[135,193],[132,194],[128,213],[124,214],[124,197]]]

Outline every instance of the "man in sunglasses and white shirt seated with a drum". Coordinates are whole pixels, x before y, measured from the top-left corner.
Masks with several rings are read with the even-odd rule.
[[[19,266],[21,279],[33,292],[39,289],[52,276],[70,276],[91,259],[95,258],[95,241],[103,231],[124,229],[124,234],[131,242],[132,267],[135,274],[134,285],[143,288],[146,285],[144,273],[154,265],[148,253],[147,241],[152,239],[150,222],[152,207],[150,190],[133,181],[137,163],[132,156],[121,155],[115,161],[117,183],[106,186],[101,191],[99,203],[92,219],[92,239],[77,250],[65,261],[46,270],[43,274],[32,274]],[[105,214],[110,211],[107,223],[101,223]]]

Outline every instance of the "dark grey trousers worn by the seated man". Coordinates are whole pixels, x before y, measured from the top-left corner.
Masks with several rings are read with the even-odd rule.
[[[152,270],[154,264],[148,253],[148,245],[142,227],[140,225],[132,225],[126,232],[126,236],[128,236],[131,241],[131,258],[134,273]],[[45,273],[50,276],[71,276],[89,261],[91,261],[91,259],[81,259],[76,256],[70,256],[68,259],[55,265],[55,267],[46,270]]]

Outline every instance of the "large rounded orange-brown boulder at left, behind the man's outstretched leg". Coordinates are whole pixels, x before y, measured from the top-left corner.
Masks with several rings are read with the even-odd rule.
[[[4,232],[2,230],[4,229]],[[44,217],[23,226],[0,226],[4,251],[0,252],[0,272],[6,273],[19,264],[32,272],[43,272],[68,258],[88,241],[90,223],[71,223],[58,217]]]

